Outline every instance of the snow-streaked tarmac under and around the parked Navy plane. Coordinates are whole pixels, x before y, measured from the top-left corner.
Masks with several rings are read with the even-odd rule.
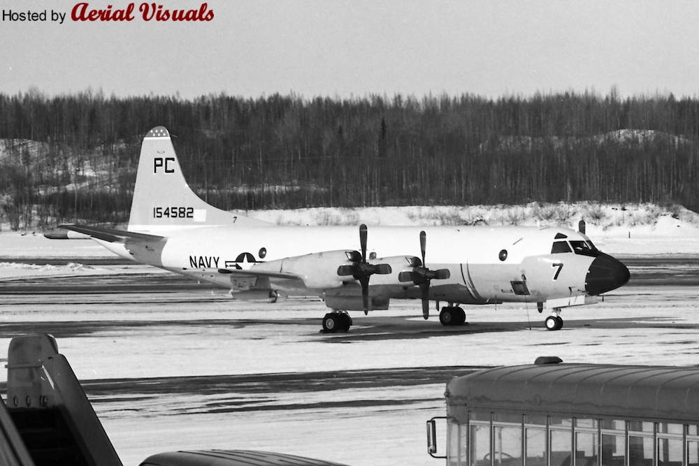
[[[543,328],[535,305],[468,307],[469,325],[444,328],[405,301],[354,313],[349,333],[324,335],[319,300],[240,303],[149,268],[13,279],[0,284],[0,361],[15,335],[54,335],[124,465],[183,448],[435,465],[424,421],[444,413],[444,384],[454,375],[551,354],[699,361],[699,262],[625,262],[629,284],[603,303],[564,310],[557,332]]]

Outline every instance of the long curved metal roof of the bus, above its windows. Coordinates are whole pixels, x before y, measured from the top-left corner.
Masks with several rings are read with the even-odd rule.
[[[468,411],[699,423],[699,367],[545,364],[496,367],[447,384],[447,414]]]

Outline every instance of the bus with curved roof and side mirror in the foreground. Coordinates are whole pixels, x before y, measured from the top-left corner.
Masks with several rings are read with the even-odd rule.
[[[699,466],[699,367],[538,358],[455,377],[445,397],[427,437],[449,466]]]

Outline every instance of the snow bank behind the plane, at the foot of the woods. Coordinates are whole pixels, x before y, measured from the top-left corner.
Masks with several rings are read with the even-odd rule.
[[[598,248],[616,256],[699,256],[699,214],[681,206],[598,203],[473,206],[408,206],[346,209],[257,210],[250,217],[280,225],[559,225],[578,228]],[[48,240],[41,232],[0,232],[2,259],[114,259],[90,240]]]

